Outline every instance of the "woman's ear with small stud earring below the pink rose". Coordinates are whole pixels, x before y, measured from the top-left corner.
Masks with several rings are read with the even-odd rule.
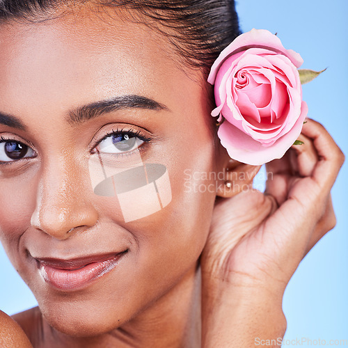
[[[223,175],[217,175],[218,185],[216,196],[230,198],[242,191],[248,191],[253,187],[253,179],[261,166],[251,166],[235,159],[231,159],[222,145],[219,146],[217,157],[217,171]]]

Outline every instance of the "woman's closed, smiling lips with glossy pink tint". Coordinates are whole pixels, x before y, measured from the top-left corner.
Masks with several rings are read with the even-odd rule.
[[[42,278],[58,290],[81,290],[93,280],[109,273],[127,251],[87,258],[60,260],[37,258]]]

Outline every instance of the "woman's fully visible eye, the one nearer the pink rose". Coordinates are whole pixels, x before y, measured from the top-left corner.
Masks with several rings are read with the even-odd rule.
[[[96,150],[102,153],[122,153],[135,150],[144,141],[130,134],[111,134],[103,139]]]

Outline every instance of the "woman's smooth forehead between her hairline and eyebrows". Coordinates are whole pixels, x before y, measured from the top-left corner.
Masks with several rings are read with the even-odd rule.
[[[0,46],[0,108],[8,113],[28,100],[65,109],[110,95],[156,98],[185,75],[165,37],[116,14],[2,24]]]

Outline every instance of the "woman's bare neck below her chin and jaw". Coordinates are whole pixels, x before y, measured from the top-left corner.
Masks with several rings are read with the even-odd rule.
[[[200,287],[200,269],[194,267],[175,287],[134,319],[110,333],[92,338],[64,335],[52,329],[41,315],[40,320],[35,321],[31,321],[28,313],[25,322],[21,315],[15,319],[34,347],[198,348],[201,337]],[[36,317],[37,313],[36,310]],[[28,324],[30,321],[35,324]]]

